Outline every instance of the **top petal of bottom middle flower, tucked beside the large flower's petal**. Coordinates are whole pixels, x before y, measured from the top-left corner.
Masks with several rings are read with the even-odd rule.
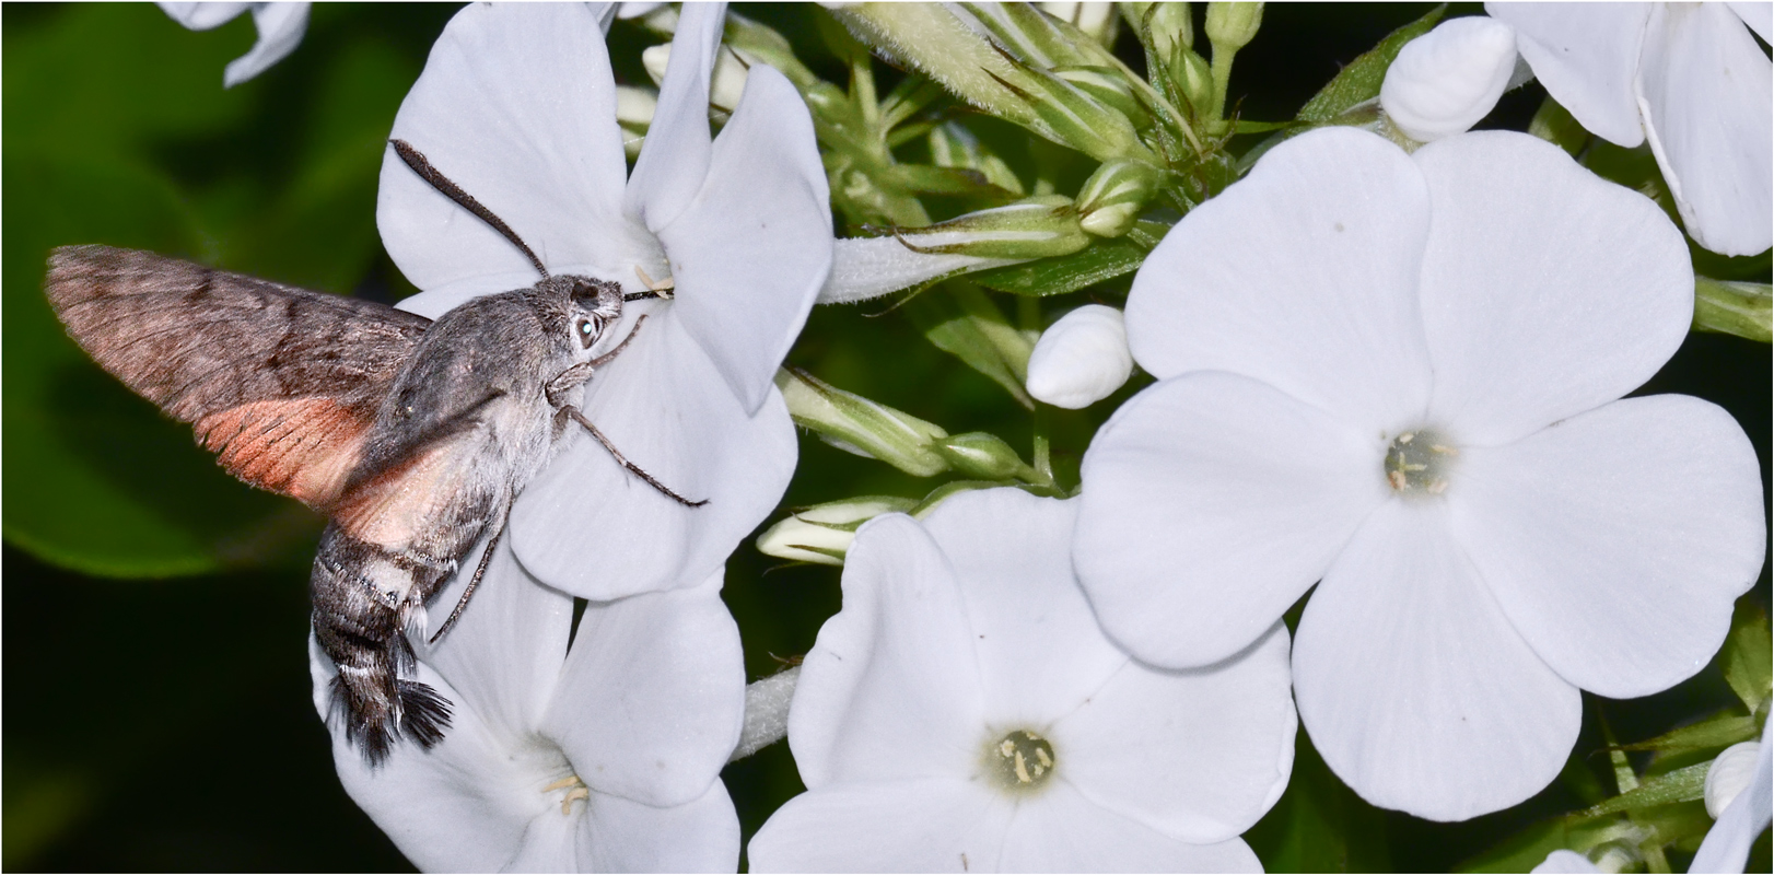
[[[1075,501],[1001,488],[954,495],[924,518],[960,582],[995,729],[1045,731],[1126,664],[1071,573],[1077,511]]]

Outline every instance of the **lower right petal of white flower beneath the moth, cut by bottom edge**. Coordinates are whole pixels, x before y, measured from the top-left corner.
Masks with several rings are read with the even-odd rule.
[[[727,784],[715,781],[701,799],[653,808],[593,793],[580,824],[573,871],[736,871],[740,816]],[[513,866],[514,871],[523,871]]]

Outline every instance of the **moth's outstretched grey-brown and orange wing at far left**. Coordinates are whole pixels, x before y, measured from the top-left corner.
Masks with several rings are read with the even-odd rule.
[[[114,247],[60,247],[44,291],[92,359],[192,422],[224,467],[326,509],[431,325],[374,302]]]

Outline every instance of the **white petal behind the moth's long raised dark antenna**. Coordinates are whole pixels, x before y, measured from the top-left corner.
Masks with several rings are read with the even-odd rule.
[[[616,85],[598,16],[584,5],[465,7],[431,48],[390,137],[424,153],[553,273],[632,284],[635,277],[621,273],[658,248],[621,213]],[[381,162],[376,227],[401,273],[428,293],[486,295],[541,279],[514,245],[392,147]]]

